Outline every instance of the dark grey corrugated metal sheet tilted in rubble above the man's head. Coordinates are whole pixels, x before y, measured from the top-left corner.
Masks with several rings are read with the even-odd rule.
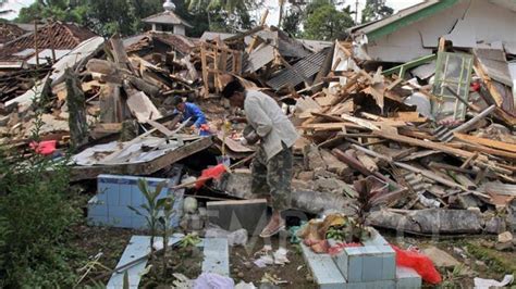
[[[310,54],[299,60],[296,64],[292,65],[292,67],[303,73],[303,75],[305,75],[306,77],[310,78],[321,70],[322,63],[324,62],[324,58],[327,56],[328,51],[328,49],[324,49],[320,52]],[[274,77],[269,79],[269,81],[267,81],[267,85],[275,90],[284,86],[297,86],[298,84],[303,83],[303,77],[295,73],[294,70],[284,68]]]

